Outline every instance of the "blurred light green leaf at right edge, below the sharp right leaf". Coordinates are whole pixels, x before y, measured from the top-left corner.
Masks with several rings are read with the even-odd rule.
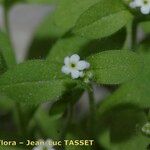
[[[139,75],[134,80],[123,84],[114,94],[109,96],[101,104],[100,113],[123,104],[136,105],[140,108],[150,107],[150,56],[145,56],[144,60],[144,66]]]

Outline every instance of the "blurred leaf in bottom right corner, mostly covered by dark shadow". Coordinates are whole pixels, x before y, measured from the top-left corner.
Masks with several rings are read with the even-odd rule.
[[[119,105],[103,113],[100,118],[102,127],[99,142],[106,149],[144,150],[149,138],[142,134],[141,128],[147,122],[143,110],[134,105]],[[104,120],[103,120],[104,119]]]

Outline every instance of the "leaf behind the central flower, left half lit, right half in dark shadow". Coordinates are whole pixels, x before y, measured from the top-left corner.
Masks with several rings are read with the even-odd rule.
[[[125,36],[125,30],[121,30],[113,36],[101,40],[87,40],[78,36],[62,38],[52,47],[47,59],[63,63],[66,56],[74,53],[79,54],[81,58],[85,58],[104,50],[112,48],[121,49],[125,41]]]

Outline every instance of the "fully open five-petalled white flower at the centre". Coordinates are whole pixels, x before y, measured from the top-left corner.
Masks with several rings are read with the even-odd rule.
[[[84,76],[84,70],[90,67],[90,64],[84,60],[80,60],[79,55],[74,54],[71,57],[67,56],[64,59],[64,66],[62,72],[65,74],[71,74],[73,79]]]

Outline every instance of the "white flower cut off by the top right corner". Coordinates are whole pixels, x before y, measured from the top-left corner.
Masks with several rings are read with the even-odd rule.
[[[130,3],[131,8],[137,8],[139,7],[141,10],[141,13],[144,15],[147,15],[150,13],[150,0],[133,0]]]

